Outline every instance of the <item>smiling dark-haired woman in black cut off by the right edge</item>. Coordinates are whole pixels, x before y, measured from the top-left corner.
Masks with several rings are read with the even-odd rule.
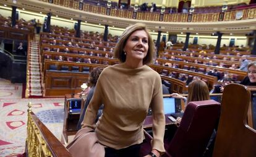
[[[256,85],[256,61],[248,64],[247,77],[241,81],[241,85],[255,86]]]

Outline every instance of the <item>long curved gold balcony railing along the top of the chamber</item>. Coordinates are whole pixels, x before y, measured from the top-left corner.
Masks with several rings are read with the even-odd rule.
[[[48,0],[40,0],[49,2]],[[255,19],[256,7],[242,10],[233,10],[226,12],[209,12],[209,13],[193,13],[193,14],[161,14],[160,12],[135,12],[125,9],[112,9],[103,6],[95,6],[85,2],[73,0],[54,0],[54,4],[69,7],[72,9],[80,9],[85,12],[93,12],[95,14],[110,15],[114,17],[122,17],[127,19],[164,21],[164,22],[218,22],[237,20],[236,13],[242,11],[240,20]],[[80,7],[79,7],[80,6]]]

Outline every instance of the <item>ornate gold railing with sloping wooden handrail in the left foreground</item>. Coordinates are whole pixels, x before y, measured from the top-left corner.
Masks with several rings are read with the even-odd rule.
[[[47,127],[32,112],[32,105],[28,103],[28,122],[26,153],[28,157],[66,156],[71,157],[69,151],[47,129]]]

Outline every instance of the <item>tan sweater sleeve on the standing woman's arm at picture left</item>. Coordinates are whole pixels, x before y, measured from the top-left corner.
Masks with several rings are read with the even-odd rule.
[[[103,92],[102,92],[102,83],[101,76],[98,78],[98,82],[96,83],[95,91],[93,93],[92,100],[88,104],[87,110],[85,112],[85,116],[83,117],[82,128],[83,127],[92,127],[95,129],[95,119],[98,113],[98,109],[100,108],[103,100]]]

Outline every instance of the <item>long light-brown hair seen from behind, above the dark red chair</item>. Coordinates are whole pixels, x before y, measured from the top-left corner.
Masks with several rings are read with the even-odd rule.
[[[187,104],[190,101],[210,100],[207,83],[202,80],[194,80],[189,83],[189,93],[187,95]]]

